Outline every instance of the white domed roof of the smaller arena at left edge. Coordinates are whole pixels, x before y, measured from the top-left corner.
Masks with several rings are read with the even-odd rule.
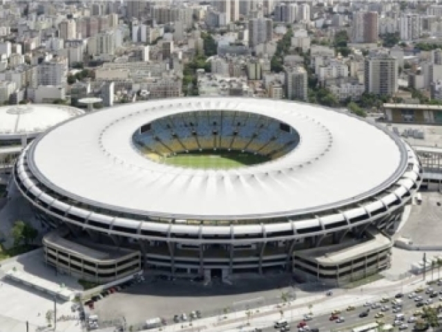
[[[83,114],[81,109],[55,104],[26,104],[0,107],[0,140],[38,134]]]

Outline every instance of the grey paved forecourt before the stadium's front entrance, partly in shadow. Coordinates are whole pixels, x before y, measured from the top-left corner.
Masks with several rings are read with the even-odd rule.
[[[241,311],[281,301],[282,293],[291,298],[311,295],[294,288],[288,274],[239,279],[232,285],[215,280],[210,286],[188,280],[146,278],[95,302],[91,314],[100,321],[126,320],[128,326],[139,326],[153,317],[164,317],[168,324],[174,315],[200,311],[202,317],[222,315],[224,310]]]

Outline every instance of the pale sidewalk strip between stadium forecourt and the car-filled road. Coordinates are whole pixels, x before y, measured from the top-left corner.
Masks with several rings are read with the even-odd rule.
[[[430,281],[431,275],[426,278]],[[422,276],[412,276],[398,282],[390,282],[382,279],[372,284],[367,284],[352,290],[336,289],[332,297],[327,297],[325,294],[313,295],[310,297],[302,297],[296,299],[290,304],[278,304],[272,306],[263,306],[258,309],[253,309],[249,317],[250,325],[247,325],[246,311],[239,311],[236,313],[228,313],[224,317],[207,317],[201,320],[186,322],[184,324],[173,324],[163,326],[161,329],[150,329],[146,331],[248,331],[246,328],[253,327],[268,327],[272,326],[273,322],[280,320],[280,311],[288,322],[296,322],[302,318],[303,315],[310,311],[314,315],[323,315],[330,313],[336,308],[345,308],[349,305],[358,306],[367,301],[373,301],[380,297],[393,297],[396,293],[409,293],[414,291],[419,286],[425,286]],[[309,308],[311,306],[311,308]]]

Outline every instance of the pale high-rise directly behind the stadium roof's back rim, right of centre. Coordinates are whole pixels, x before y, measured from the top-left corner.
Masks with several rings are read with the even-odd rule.
[[[307,71],[302,66],[285,68],[285,98],[307,101]]]

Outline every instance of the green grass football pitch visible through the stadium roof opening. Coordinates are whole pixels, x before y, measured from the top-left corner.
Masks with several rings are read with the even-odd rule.
[[[229,169],[265,163],[270,158],[240,151],[192,151],[164,158],[163,163],[171,166],[200,169]]]

